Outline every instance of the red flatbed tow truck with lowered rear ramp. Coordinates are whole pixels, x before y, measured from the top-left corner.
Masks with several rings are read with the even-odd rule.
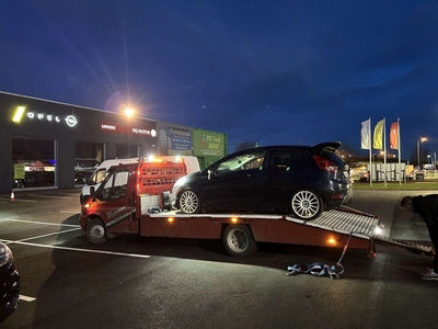
[[[431,256],[431,248],[380,235],[378,216],[348,207],[323,212],[312,220],[287,214],[183,214],[171,209],[173,183],[183,163],[157,159],[115,166],[81,205],[80,224],[93,243],[119,232],[145,237],[220,239],[227,252],[245,257],[257,242],[362,249],[376,243]]]

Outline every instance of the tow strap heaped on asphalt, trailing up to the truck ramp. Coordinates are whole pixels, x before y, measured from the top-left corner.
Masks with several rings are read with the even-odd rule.
[[[324,276],[328,275],[330,279],[341,279],[341,274],[344,273],[344,266],[341,264],[342,260],[344,259],[345,252],[347,251],[349,240],[351,238],[351,231],[348,235],[347,243],[344,246],[344,250],[339,257],[339,260],[334,265],[327,265],[322,262],[315,262],[310,264],[309,266],[302,266],[299,264],[295,264],[293,266],[288,266],[287,275],[297,275],[297,274],[312,274],[314,276]]]

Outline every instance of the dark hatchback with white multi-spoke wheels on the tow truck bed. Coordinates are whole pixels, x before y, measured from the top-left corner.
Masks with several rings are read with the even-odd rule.
[[[339,141],[269,146],[229,155],[173,186],[183,213],[287,213],[319,217],[353,196],[349,168],[336,154]]]

